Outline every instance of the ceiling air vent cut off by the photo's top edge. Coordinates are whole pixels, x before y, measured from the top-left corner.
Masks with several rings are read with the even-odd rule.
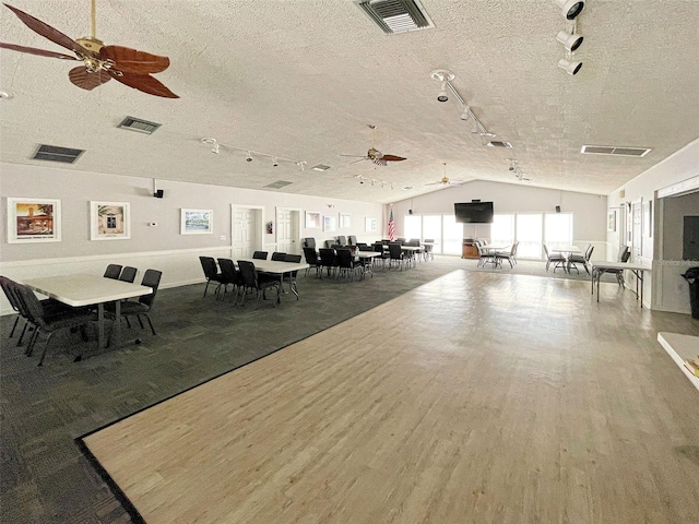
[[[355,3],[388,35],[435,27],[417,0],[355,0]]]

